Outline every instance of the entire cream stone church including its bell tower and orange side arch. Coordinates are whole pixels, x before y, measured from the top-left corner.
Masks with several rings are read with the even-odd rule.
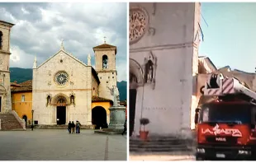
[[[85,126],[107,126],[114,95],[119,95],[117,49],[104,42],[93,51],[95,68],[90,54],[88,63],[83,63],[64,49],[63,42],[59,51],[44,63],[37,65],[35,58],[32,80],[35,124],[61,125],[78,120]]]

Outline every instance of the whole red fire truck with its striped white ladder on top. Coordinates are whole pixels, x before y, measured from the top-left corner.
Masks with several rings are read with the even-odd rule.
[[[211,75],[196,109],[197,160],[256,160],[256,93],[234,77]]]

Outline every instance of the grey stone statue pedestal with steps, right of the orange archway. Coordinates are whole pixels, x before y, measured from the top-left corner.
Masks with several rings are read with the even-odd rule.
[[[126,121],[126,107],[121,105],[112,106],[109,110],[110,123],[108,128],[94,131],[94,133],[121,134],[123,132]]]

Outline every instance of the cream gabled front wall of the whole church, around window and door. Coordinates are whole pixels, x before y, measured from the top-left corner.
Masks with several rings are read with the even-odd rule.
[[[60,63],[61,59],[62,63]],[[64,86],[59,86],[54,81],[55,74],[59,71],[69,74],[69,81]],[[50,95],[52,100],[55,100],[56,95],[59,94],[66,96],[69,102],[70,95],[75,96],[75,105],[66,107],[66,123],[69,120],[79,120],[81,124],[92,123],[92,69],[63,50],[34,69],[32,102],[32,108],[35,110],[34,120],[38,120],[39,124],[56,123],[56,106],[46,107],[46,98]]]

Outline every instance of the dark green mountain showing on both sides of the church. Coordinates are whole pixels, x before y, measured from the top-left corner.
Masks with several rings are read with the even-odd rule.
[[[11,72],[11,82],[17,81],[21,83],[24,81],[32,80],[33,69],[32,68],[10,68]],[[127,82],[126,81],[117,81],[117,87],[120,92],[120,100],[127,99]]]

